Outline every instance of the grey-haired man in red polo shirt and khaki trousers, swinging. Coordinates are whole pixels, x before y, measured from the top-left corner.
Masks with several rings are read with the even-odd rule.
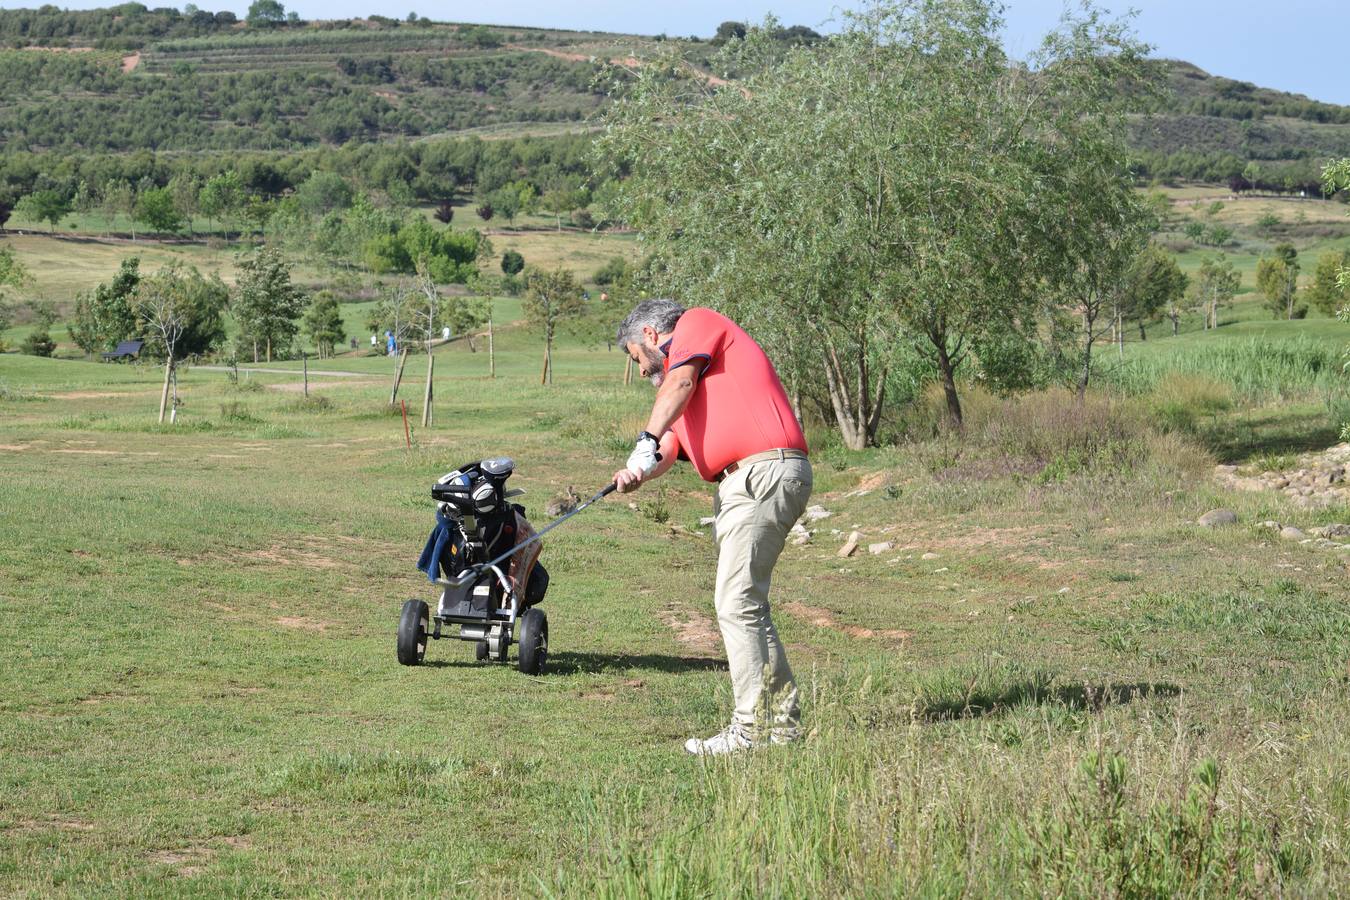
[[[618,344],[656,386],[628,466],[636,491],[687,459],[717,483],[714,606],[726,645],[732,723],[690,738],[690,753],[722,754],[798,737],[796,683],[768,610],[770,579],[787,532],[811,495],[806,439],[778,372],[749,335],[711,309],[647,300],[618,327]]]

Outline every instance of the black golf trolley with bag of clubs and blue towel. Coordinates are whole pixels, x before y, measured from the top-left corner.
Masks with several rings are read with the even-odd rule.
[[[535,606],[548,591],[548,571],[539,563],[539,534],[525,509],[508,502],[525,493],[505,490],[514,467],[505,456],[468,463],[431,488],[436,528],[417,568],[443,590],[435,614],[424,600],[404,603],[398,623],[404,665],[423,661],[428,638],[447,637],[473,641],[479,661],[505,663],[510,645],[518,644],[521,672],[537,675],[544,668],[548,617]]]

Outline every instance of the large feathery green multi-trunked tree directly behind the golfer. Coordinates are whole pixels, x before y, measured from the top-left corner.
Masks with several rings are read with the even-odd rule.
[[[1091,8],[1030,65],[1004,54],[995,0],[841,19],[811,45],[774,20],[728,42],[714,67],[747,73],[734,85],[668,59],[625,73],[598,151],[632,173],[618,210],[653,248],[651,289],[736,317],[860,448],[900,354],[923,352],[960,426],[963,363],[1038,341],[1068,270],[1065,171],[1130,179],[1125,113],[1152,73]]]

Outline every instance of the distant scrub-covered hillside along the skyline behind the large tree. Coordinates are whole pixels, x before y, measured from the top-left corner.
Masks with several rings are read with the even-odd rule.
[[[784,30],[784,35],[810,35]],[[7,152],[301,151],[429,136],[585,131],[609,61],[716,39],[396,20],[246,24],[231,13],[0,11]],[[1350,154],[1350,108],[1160,61],[1168,90],[1133,130],[1143,177],[1274,186]]]

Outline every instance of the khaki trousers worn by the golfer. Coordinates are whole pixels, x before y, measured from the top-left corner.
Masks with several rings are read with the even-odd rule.
[[[774,564],[811,495],[805,459],[765,460],[737,470],[713,498],[717,540],[717,622],[736,698],[733,722],[752,733],[798,725],[796,681],[768,611]]]

